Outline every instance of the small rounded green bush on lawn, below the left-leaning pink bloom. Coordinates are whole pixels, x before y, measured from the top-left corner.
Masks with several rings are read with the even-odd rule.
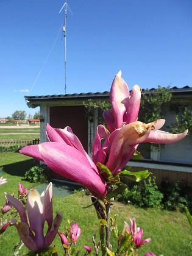
[[[29,182],[46,182],[49,176],[50,172],[46,166],[34,166],[26,171],[24,179]]]

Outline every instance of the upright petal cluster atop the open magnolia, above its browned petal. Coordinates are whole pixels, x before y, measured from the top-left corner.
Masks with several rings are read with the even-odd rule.
[[[105,122],[110,132],[137,121],[140,109],[141,88],[134,85],[131,94],[126,82],[121,78],[121,71],[116,74],[110,90],[112,109],[103,113]]]

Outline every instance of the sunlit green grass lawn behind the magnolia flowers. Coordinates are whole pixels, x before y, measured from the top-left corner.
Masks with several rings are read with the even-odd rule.
[[[8,182],[0,186],[0,203],[4,204],[4,191],[17,194],[18,182],[22,181],[24,172],[32,165],[37,165],[30,157],[18,153],[0,154],[0,166],[4,166],[3,176]],[[22,181],[24,187],[38,187],[39,183],[29,183]],[[91,236],[96,234],[98,241],[98,220],[94,207],[83,209],[82,207],[91,204],[89,196],[85,196],[84,192],[78,192],[67,197],[53,198],[54,216],[59,210],[63,213],[63,222],[60,231],[64,229],[67,220],[76,221],[82,229],[82,235],[77,241],[76,246],[82,252],[82,246],[88,245],[93,248]],[[163,254],[164,256],[174,255],[191,255],[190,241],[192,240],[192,229],[188,224],[184,213],[169,212],[159,208],[138,208],[132,205],[124,205],[115,202],[112,208],[112,215],[118,213],[118,227],[121,231],[124,221],[129,222],[129,218],[136,218],[137,225],[143,227],[144,238],[152,238],[151,243],[144,244],[139,255],[144,255],[144,252],[154,252],[156,255]],[[1,236],[0,251],[2,255],[13,255],[13,245],[20,241],[15,227],[8,227],[5,233]],[[114,238],[112,236],[112,241]],[[60,244],[60,238],[54,241],[55,246],[59,250],[59,255],[63,255],[63,248]],[[26,253],[27,249],[23,247],[21,254]]]

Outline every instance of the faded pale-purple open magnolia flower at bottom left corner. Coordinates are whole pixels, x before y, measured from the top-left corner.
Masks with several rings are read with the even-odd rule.
[[[52,183],[49,183],[46,191],[38,193],[31,188],[27,196],[27,221],[26,210],[18,199],[10,194],[5,193],[7,200],[18,210],[21,222],[12,219],[10,225],[14,225],[18,230],[21,240],[30,251],[40,251],[48,248],[57,235],[59,226],[62,222],[63,215],[57,212],[53,220],[52,216]],[[44,222],[48,222],[48,230],[44,236]]]

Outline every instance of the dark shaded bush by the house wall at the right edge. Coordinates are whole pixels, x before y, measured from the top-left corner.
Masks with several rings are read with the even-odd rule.
[[[161,191],[164,194],[163,207],[167,210],[183,211],[185,206],[191,209],[191,187],[187,182],[171,183],[164,180]]]

